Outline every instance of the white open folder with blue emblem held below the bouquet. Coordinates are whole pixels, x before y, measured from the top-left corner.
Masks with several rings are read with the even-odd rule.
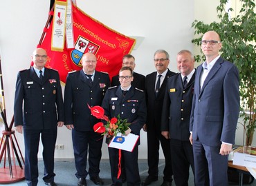
[[[139,137],[140,136],[131,133],[127,136],[122,136],[121,133],[118,133],[112,138],[111,142],[109,143],[109,147],[132,152]]]

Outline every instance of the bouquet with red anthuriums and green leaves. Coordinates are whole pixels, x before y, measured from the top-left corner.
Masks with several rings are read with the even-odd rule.
[[[120,116],[109,118],[104,115],[104,109],[100,106],[90,107],[91,114],[96,118],[103,119],[107,121],[107,124],[104,125],[102,122],[98,122],[93,126],[94,132],[102,133],[102,135],[107,134],[107,136],[116,136],[118,133],[125,134],[125,131],[129,129],[131,123],[127,122],[127,119],[120,119]]]

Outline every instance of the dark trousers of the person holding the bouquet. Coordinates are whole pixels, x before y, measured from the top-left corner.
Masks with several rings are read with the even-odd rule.
[[[138,145],[134,147],[133,152],[125,150],[121,151],[121,158],[125,161],[125,174],[127,178],[127,185],[140,185],[140,174],[138,172]],[[109,161],[111,167],[111,178],[113,185],[122,185],[122,176],[118,179],[118,162],[119,149],[109,147]]]

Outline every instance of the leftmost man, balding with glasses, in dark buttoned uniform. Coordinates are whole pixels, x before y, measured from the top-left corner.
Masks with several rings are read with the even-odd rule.
[[[57,71],[44,68],[47,54],[42,48],[33,52],[33,67],[17,76],[15,91],[15,127],[24,130],[25,177],[30,186],[38,183],[37,153],[41,135],[44,147],[44,177],[46,185],[54,182],[54,151],[57,126],[64,124],[64,107],[60,76]],[[22,109],[22,105],[24,108]]]

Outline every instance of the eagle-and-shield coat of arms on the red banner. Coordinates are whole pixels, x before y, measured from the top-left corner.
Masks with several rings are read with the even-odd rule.
[[[86,52],[91,52],[93,54],[97,54],[100,49],[100,45],[97,45],[84,37],[78,37],[75,43],[75,49],[71,52],[71,59],[73,63],[82,67],[81,58],[82,55]]]

